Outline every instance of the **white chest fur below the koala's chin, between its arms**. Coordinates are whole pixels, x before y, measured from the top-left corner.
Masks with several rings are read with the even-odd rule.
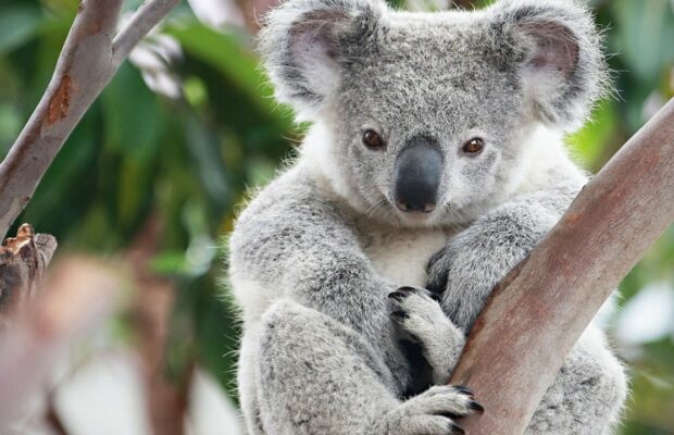
[[[380,228],[359,225],[365,254],[375,271],[396,285],[424,287],[430,257],[445,247],[450,234],[444,229]]]

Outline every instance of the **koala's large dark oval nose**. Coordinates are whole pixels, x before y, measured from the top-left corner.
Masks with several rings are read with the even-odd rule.
[[[395,200],[405,212],[435,210],[442,177],[442,153],[433,139],[417,136],[405,144],[396,161]]]

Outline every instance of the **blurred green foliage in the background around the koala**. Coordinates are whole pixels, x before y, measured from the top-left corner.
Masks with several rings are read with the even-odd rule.
[[[139,1],[127,3],[133,9]],[[674,96],[674,3],[591,4],[613,54],[616,98],[603,101],[595,122],[570,144],[578,160],[597,171]],[[0,3],[3,153],[51,76],[76,7],[76,0]],[[158,49],[166,36],[179,44],[174,57]],[[278,162],[292,156],[301,132],[289,111],[271,99],[245,28],[214,30],[183,3],[146,44],[157,65],[138,61],[122,66],[20,221],[55,235],[60,252],[114,254],[132,244],[148,220],[159,219],[164,231],[152,266],[173,277],[178,288],[166,349],[170,371],[179,373],[190,361],[200,361],[235,396],[238,330],[229,302],[217,301],[224,258],[219,240],[232,228],[247,188],[273,177]],[[176,84],[177,94],[151,90],[147,83],[152,77]],[[665,283],[674,293],[672,228],[625,279],[621,304],[652,283]],[[623,434],[674,433],[673,334],[629,353],[634,397]]]

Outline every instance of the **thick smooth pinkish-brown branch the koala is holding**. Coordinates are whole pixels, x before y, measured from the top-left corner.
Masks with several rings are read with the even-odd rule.
[[[486,413],[472,434],[521,434],[612,289],[674,221],[674,100],[595,176],[494,290],[451,383]]]

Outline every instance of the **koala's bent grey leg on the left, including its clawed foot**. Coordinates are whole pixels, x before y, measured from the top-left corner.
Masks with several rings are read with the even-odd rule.
[[[454,434],[461,428],[451,418],[475,409],[467,391],[451,386],[400,401],[360,334],[291,301],[265,312],[257,371],[269,435]]]

